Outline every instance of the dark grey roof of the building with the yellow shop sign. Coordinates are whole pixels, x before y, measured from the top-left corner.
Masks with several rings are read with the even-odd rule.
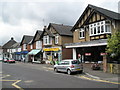
[[[72,26],[50,23],[48,29],[50,26],[52,26],[60,35],[73,36],[72,32],[70,31]]]

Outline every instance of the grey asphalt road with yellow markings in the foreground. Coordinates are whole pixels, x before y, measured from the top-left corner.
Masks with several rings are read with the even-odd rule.
[[[41,64],[2,63],[2,88],[118,88],[118,85],[56,73]]]

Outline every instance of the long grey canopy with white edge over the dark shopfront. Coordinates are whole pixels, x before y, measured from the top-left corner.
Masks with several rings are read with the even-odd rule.
[[[65,44],[66,48],[78,48],[78,47],[93,47],[93,46],[105,46],[107,45],[107,39],[85,41],[79,43]]]

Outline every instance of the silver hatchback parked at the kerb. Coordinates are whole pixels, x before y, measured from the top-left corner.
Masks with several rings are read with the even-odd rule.
[[[58,64],[55,64],[54,71],[67,72],[67,74],[71,75],[73,72],[82,73],[83,67],[78,60],[68,59],[68,60],[62,60]]]

